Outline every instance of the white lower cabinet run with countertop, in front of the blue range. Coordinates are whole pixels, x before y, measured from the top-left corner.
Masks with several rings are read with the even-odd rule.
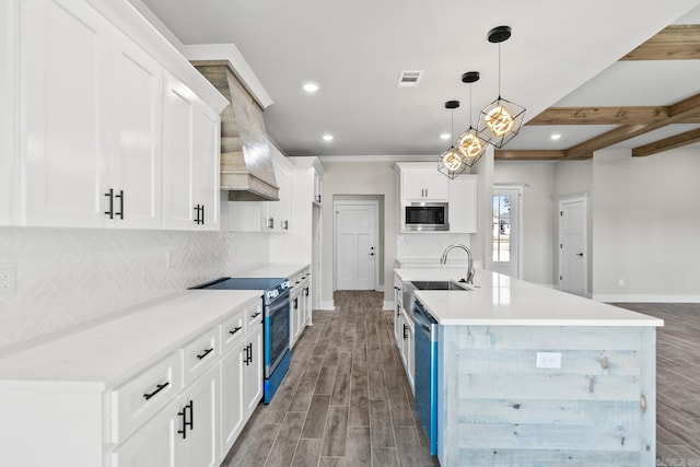
[[[217,292],[246,299],[231,307]],[[179,304],[173,300],[39,345],[36,354],[2,359],[0,413],[8,423],[0,424],[0,465],[219,467],[262,399],[261,300],[249,291],[195,296],[197,302],[186,295]],[[202,299],[217,303],[215,317],[209,313],[201,323],[185,316],[198,313],[192,303]],[[153,332],[116,337],[155,329],[174,311],[206,330],[155,339],[158,346]],[[75,354],[89,345],[90,352]],[[124,369],[140,370],[126,375]],[[27,372],[34,376],[26,378]]]

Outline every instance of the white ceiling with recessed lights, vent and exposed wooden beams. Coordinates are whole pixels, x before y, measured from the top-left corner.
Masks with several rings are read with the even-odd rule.
[[[550,107],[672,106],[700,94],[698,59],[618,61],[669,24],[700,24],[700,0],[142,2],[183,44],[236,45],[273,101],[267,131],[288,155],[440,154],[451,118],[455,137],[469,125],[462,73],[481,73],[471,85],[475,126],[499,94],[499,46],[487,40],[498,25],[513,30],[500,46],[501,95],[526,107],[526,120]],[[419,86],[398,89],[401,70],[422,70]],[[320,90],[304,93],[305,81]],[[462,101],[454,115],[450,100]],[[504,150],[552,150],[535,159],[558,159],[618,128],[581,122],[526,125]],[[700,119],[668,125],[607,147],[698,128]]]

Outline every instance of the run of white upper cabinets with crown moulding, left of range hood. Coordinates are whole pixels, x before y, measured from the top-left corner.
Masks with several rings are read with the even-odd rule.
[[[226,101],[128,2],[7,0],[0,26],[0,224],[219,229]]]

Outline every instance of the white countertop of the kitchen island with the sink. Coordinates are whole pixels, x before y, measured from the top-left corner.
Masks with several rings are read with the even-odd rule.
[[[448,269],[395,269],[401,281],[458,280]],[[416,292],[441,325],[663,326],[663,319],[623,310],[488,270],[478,270],[471,291]]]

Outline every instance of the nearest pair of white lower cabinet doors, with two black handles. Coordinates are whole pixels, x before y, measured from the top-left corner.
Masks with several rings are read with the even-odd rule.
[[[217,467],[219,369],[209,370],[175,402],[112,454],[112,467]]]

